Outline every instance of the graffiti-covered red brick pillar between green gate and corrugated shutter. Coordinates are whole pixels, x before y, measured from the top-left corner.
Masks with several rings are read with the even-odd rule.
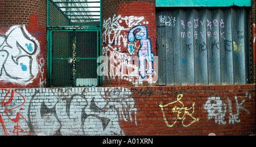
[[[156,83],[155,1],[102,1],[102,55],[104,86]]]

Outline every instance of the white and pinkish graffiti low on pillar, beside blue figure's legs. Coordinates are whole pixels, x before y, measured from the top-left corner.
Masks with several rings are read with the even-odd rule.
[[[101,63],[97,68],[98,76],[106,76],[108,79],[123,79],[134,84],[143,84],[143,81],[148,83],[155,83],[158,80],[157,72],[154,71],[152,75],[148,75],[147,79],[142,79],[138,73],[139,57],[127,56],[125,53],[119,53],[118,51],[112,51],[108,49],[109,56],[98,57],[97,62]],[[155,57],[158,61],[158,57]],[[154,62],[156,66],[158,62]]]

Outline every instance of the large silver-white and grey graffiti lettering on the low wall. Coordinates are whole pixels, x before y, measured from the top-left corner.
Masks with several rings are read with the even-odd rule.
[[[36,132],[45,135],[124,135],[118,122],[133,121],[137,125],[137,109],[133,98],[115,94],[120,90],[107,88],[92,96],[92,88],[77,93],[73,93],[72,88],[61,88],[50,97],[41,97],[36,90],[30,107],[40,103],[39,109],[28,112],[31,131],[33,135]],[[71,125],[77,126],[76,129],[67,131]]]

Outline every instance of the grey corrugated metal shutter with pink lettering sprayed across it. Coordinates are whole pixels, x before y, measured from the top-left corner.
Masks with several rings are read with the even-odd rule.
[[[250,82],[245,7],[157,8],[159,85]]]

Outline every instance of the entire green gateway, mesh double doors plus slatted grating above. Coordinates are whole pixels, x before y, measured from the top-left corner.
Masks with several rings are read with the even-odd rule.
[[[50,87],[100,86],[101,0],[47,0]]]

